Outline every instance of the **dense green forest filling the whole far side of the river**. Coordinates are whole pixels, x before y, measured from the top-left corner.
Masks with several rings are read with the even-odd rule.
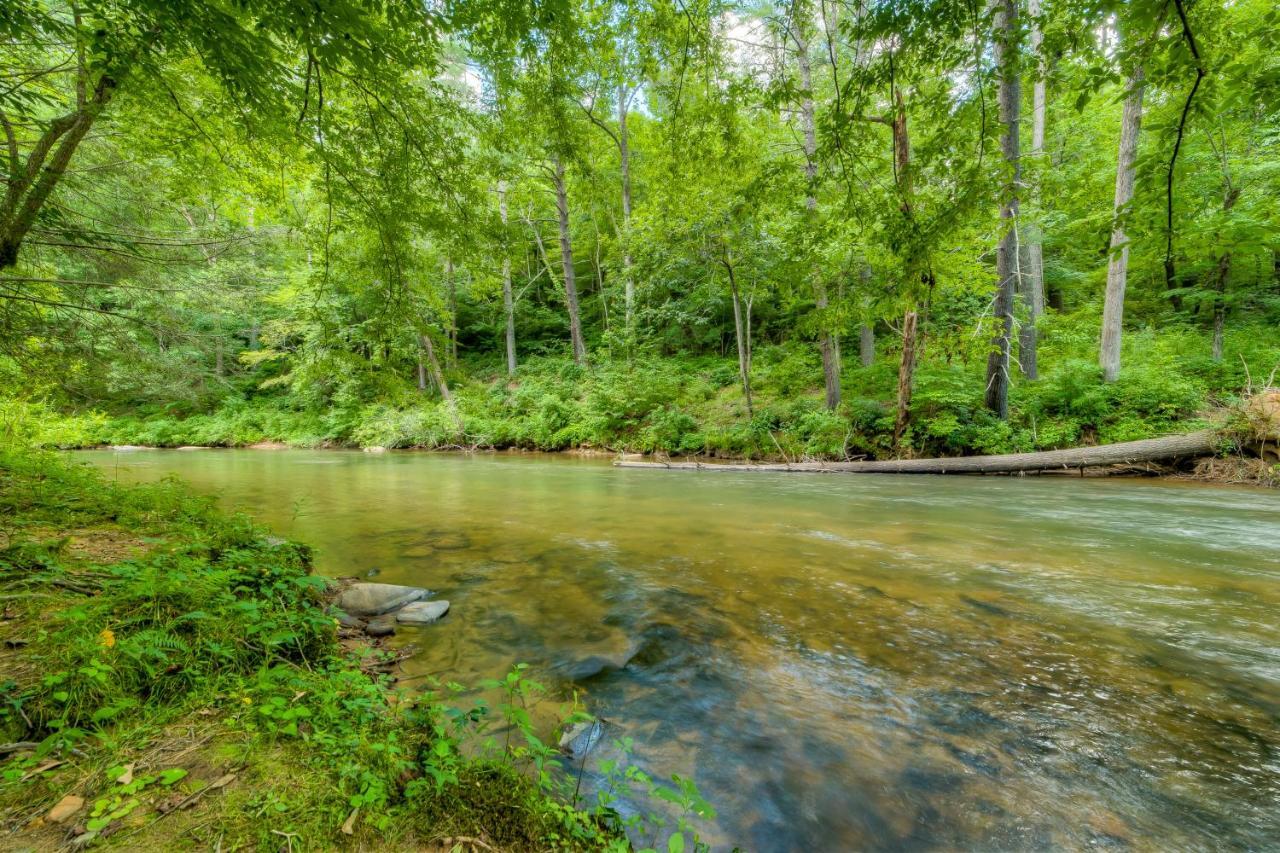
[[[1277,41],[1266,0],[6,3],[4,423],[1170,432],[1280,364]]]

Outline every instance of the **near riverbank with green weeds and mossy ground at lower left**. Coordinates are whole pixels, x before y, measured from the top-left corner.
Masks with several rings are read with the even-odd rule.
[[[623,822],[607,797],[570,799],[522,671],[485,685],[504,697],[493,710],[457,685],[397,692],[387,652],[339,644],[305,546],[177,483],[120,487],[0,450],[0,847],[695,839],[684,818]],[[618,790],[709,812],[687,788],[616,775]]]

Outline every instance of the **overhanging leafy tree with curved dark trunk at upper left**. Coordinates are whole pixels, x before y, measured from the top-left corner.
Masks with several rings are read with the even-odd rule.
[[[26,45],[24,73],[0,96],[8,149],[0,270],[18,263],[77,150],[119,92],[159,86],[172,95],[168,76],[196,61],[259,119],[256,127],[266,128],[287,106],[301,106],[303,115],[319,111],[312,101],[330,76],[371,81],[389,69],[430,67],[436,40],[424,12],[408,5],[374,12],[358,0],[22,3],[0,18],[0,37]],[[58,101],[65,106],[50,114]],[[175,109],[186,111],[180,104]],[[35,134],[23,138],[24,128]]]

